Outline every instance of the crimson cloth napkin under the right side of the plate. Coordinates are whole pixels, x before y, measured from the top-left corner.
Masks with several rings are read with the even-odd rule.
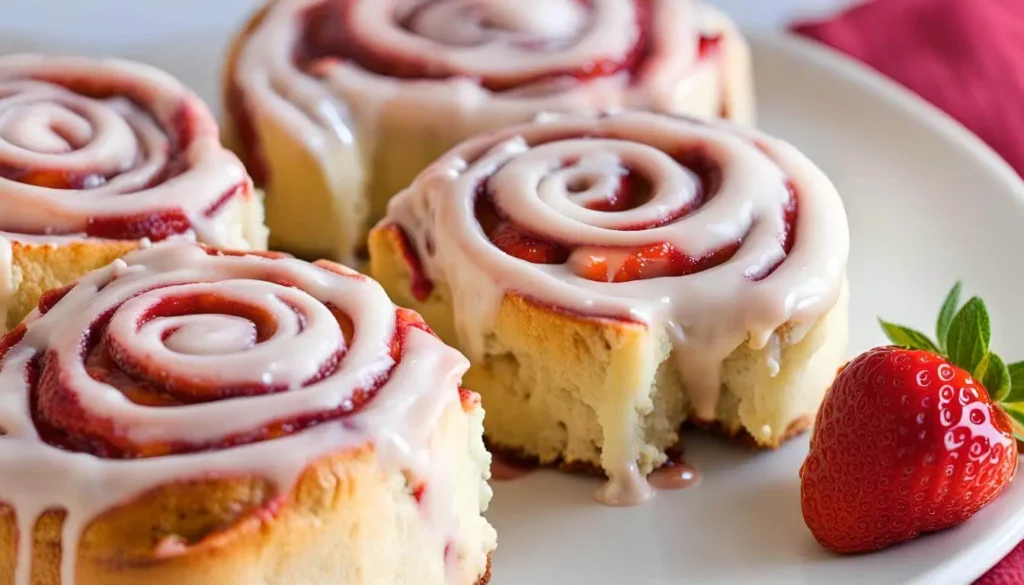
[[[1024,175],[1024,0],[873,0],[793,29],[909,87]],[[1022,584],[1024,543],[975,585]]]

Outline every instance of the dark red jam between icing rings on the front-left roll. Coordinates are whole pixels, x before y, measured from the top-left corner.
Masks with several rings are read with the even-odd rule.
[[[231,253],[214,251],[208,251],[208,254],[217,258],[234,256]],[[296,262],[296,260],[275,254],[265,254],[263,258],[259,269],[248,275],[250,279],[257,278],[262,273],[263,283],[270,285],[266,290],[271,293],[288,292],[289,289],[296,288],[289,280],[280,277],[273,265],[276,261]],[[328,262],[318,263],[318,267],[346,278],[365,280],[359,275]],[[112,326],[112,322],[119,319],[119,312],[130,310],[125,307],[127,303],[145,297],[154,300],[140,314],[141,318],[135,319],[129,316],[135,320],[131,329],[135,335],[141,336],[147,327],[157,322],[169,322],[170,325],[163,328],[160,339],[162,343],[170,345],[173,343],[173,336],[181,329],[194,327],[189,325],[189,319],[216,316],[219,319],[228,318],[249,324],[252,336],[241,342],[245,345],[242,348],[244,351],[274,338],[282,329],[289,329],[298,336],[306,329],[306,321],[315,318],[306,315],[302,306],[289,305],[292,315],[287,319],[294,319],[294,323],[283,323],[280,321],[280,315],[275,316],[266,305],[240,300],[245,295],[234,294],[229,281],[221,283],[221,286],[227,287],[223,289],[225,293],[218,292],[221,289],[218,289],[216,283],[213,283],[214,286],[208,286],[211,283],[202,283],[208,290],[199,292],[190,290],[189,285],[194,284],[196,283],[174,282],[147,288],[97,311],[92,316],[89,326],[81,332],[80,351],[74,360],[77,363],[65,363],[62,360],[67,360],[67,354],[50,349],[40,352],[27,364],[25,376],[30,386],[32,419],[44,442],[62,450],[89,453],[100,458],[136,459],[226,449],[340,421],[364,408],[387,382],[390,372],[402,360],[403,342],[409,331],[419,329],[429,332],[426,324],[415,312],[402,308],[394,309],[394,333],[387,348],[391,366],[357,388],[337,408],[274,420],[247,432],[222,436],[216,441],[133,440],[119,430],[118,420],[97,417],[83,408],[79,398],[83,389],[78,387],[83,379],[69,375],[69,370],[84,369],[88,376],[84,383],[101,384],[105,388],[116,390],[132,404],[159,409],[176,409],[229,399],[254,399],[276,392],[301,392],[310,385],[341,375],[346,368],[359,367],[357,364],[346,363],[347,348],[351,346],[356,335],[354,322],[345,311],[330,303],[325,303],[324,306],[334,320],[332,327],[340,332],[339,339],[343,341],[327,353],[327,358],[322,361],[312,376],[301,384],[292,385],[276,384],[272,381],[231,385],[217,377],[211,378],[201,373],[180,370],[174,364],[162,362],[159,356],[155,357],[139,349],[137,339],[121,337],[120,333],[123,330]],[[43,295],[39,302],[40,314],[46,315],[53,307],[59,306],[65,295],[73,290],[74,286],[69,286]],[[297,294],[303,293],[299,291]],[[288,304],[285,299],[279,300]],[[4,356],[22,341],[31,326],[30,321],[0,339],[0,364]],[[225,364],[226,360],[230,359],[230,356],[225,356]],[[270,365],[266,367],[269,368]],[[475,395],[470,392],[465,393],[470,398]],[[464,398],[465,400],[468,399]]]

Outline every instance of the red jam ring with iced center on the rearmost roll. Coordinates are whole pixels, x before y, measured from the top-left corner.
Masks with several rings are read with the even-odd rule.
[[[577,0],[565,2],[562,10],[545,5],[551,14],[535,15],[532,19],[523,12],[540,8],[514,0],[422,0],[381,8],[368,20],[365,9],[376,1],[322,0],[296,8],[290,15],[294,32],[278,36],[291,43],[286,53],[291,66],[315,78],[326,77],[336,66],[351,65],[396,80],[469,79],[512,99],[520,97],[516,92],[525,91],[521,97],[528,100],[530,96],[573,90],[609,78],[624,79],[627,86],[636,87],[659,68],[671,67],[677,75],[685,76],[693,61],[721,56],[722,34],[687,28],[697,19],[693,14],[683,18],[678,31],[678,35],[692,41],[692,54],[680,48],[678,38],[671,42],[657,38],[659,29],[654,19],[662,13],[659,1],[675,0],[622,0],[615,6]],[[603,17],[607,11],[621,9],[623,17]],[[236,57],[257,34],[269,10],[272,8],[265,7],[250,19],[236,48]],[[570,14],[575,11],[580,14]],[[537,20],[545,18],[553,23],[539,26]],[[467,29],[473,31],[468,38]],[[607,37],[608,41],[594,43],[595,35]],[[395,39],[415,42],[399,45]],[[488,55],[469,59],[475,69],[467,69],[461,60],[474,50],[487,50],[496,44],[504,49],[509,62],[518,65],[498,67],[495,60],[501,59]],[[579,54],[574,55],[577,49]],[[663,54],[667,51],[670,54]],[[681,56],[676,54],[680,51],[687,52],[685,58],[690,62],[674,61]],[[243,89],[234,65],[229,67],[225,103],[238,134],[238,150],[255,180],[264,183],[269,169],[254,120],[259,113],[256,103],[250,102],[260,97],[251,93],[252,87]]]

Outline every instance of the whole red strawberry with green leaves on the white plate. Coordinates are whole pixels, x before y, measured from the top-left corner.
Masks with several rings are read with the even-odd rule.
[[[988,350],[981,299],[958,304],[959,284],[937,343],[881,322],[898,346],[859,356],[825,394],[800,470],[804,520],[822,546],[864,552],[953,527],[1013,478],[1024,362]]]

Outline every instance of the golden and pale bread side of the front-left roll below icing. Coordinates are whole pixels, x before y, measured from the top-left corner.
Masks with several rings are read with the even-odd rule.
[[[453,409],[445,420],[472,408]],[[460,425],[446,432],[464,441]],[[426,532],[413,490],[396,485],[395,473],[365,445],[313,462],[288,493],[253,476],[161,486],[88,525],[77,584],[390,582],[395,563],[422,571],[420,557],[428,556],[416,546]],[[60,585],[63,518],[48,511],[36,524],[32,585]],[[395,534],[419,536],[396,545]],[[0,585],[13,584],[15,535],[13,512],[0,507]],[[486,552],[480,584],[489,579]]]

